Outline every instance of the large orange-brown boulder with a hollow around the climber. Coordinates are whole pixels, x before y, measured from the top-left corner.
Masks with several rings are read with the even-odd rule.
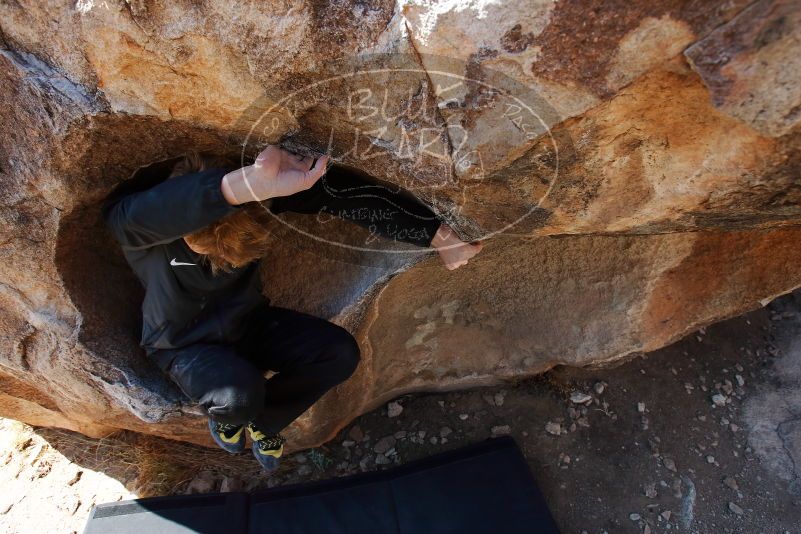
[[[451,272],[273,221],[267,296],[363,353],[293,449],[404,392],[601,365],[801,286],[801,9],[698,5],[3,4],[0,414],[211,445],[139,350],[98,211],[189,149],[328,148],[485,240]]]

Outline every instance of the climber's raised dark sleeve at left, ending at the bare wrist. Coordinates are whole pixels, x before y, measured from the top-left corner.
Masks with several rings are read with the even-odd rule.
[[[223,195],[227,172],[209,169],[168,178],[146,191],[107,202],[103,219],[123,248],[169,243],[241,209]]]

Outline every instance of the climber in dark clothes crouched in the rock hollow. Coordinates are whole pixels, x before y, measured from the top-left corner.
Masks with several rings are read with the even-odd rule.
[[[275,145],[252,165],[233,168],[187,155],[142,191],[125,187],[102,213],[145,286],[140,345],[208,416],[214,441],[239,453],[245,429],[261,466],[278,467],[280,432],[355,371],[359,346],[343,327],[273,306],[258,262],[268,246],[267,210],[329,213],[385,237],[435,249],[448,269],[482,247],[465,243],[413,198],[328,172],[327,155],[301,156]],[[361,208],[381,217],[364,218]],[[276,374],[265,378],[266,371]]]

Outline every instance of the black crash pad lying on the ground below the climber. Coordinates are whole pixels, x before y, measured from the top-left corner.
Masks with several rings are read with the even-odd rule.
[[[558,532],[511,437],[407,464],[253,493],[97,505],[85,534]]]

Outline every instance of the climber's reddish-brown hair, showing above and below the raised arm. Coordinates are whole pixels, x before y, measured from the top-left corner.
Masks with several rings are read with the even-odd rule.
[[[168,178],[211,168],[233,168],[227,158],[189,152],[173,167]],[[249,202],[240,210],[184,236],[192,248],[206,251],[201,261],[211,265],[213,274],[230,272],[247,265],[267,252],[269,216],[258,202]]]

